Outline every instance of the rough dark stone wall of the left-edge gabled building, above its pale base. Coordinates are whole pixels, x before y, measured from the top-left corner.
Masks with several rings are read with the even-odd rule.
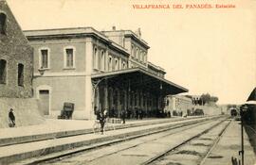
[[[7,61],[6,83],[0,84],[0,97],[32,96],[33,50],[7,2],[0,1],[0,12],[6,14],[6,34],[0,34],[0,59]],[[24,65],[24,85],[18,86],[18,64]]]

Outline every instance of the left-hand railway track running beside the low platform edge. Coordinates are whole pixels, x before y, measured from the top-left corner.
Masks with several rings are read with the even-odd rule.
[[[115,160],[118,160],[117,162],[119,162],[119,154],[121,154],[121,157],[124,157],[124,159],[127,159],[127,157],[138,157],[135,158],[137,161],[132,164],[151,164],[156,162],[156,160],[159,159],[160,157],[165,156],[166,153],[169,153],[170,151],[177,149],[179,146],[188,143],[190,140],[194,140],[196,137],[199,137],[199,134],[203,135],[206,132],[210,131],[210,129],[213,129],[213,127],[221,123],[224,123],[225,121],[226,119],[223,118],[218,120],[214,118],[203,121],[201,120],[200,122],[193,121],[185,124],[177,124],[170,128],[157,130],[148,134],[134,136],[123,140],[105,142],[98,144],[90,149],[87,148],[84,150],[73,151],[70,153],[67,152],[64,153],[63,155],[59,155],[56,157],[41,158],[23,164],[101,164],[101,162],[105,162],[105,159],[108,159],[109,157],[116,157]],[[156,155],[154,154],[154,156],[148,155],[147,153],[138,155],[131,155],[127,153],[125,154],[125,152],[129,152],[130,150],[141,150],[141,147],[145,148],[148,145],[149,149],[152,149],[154,147],[150,147],[150,144],[157,144],[158,140],[172,140],[172,137],[174,135],[175,137],[177,137],[182,132],[190,132],[190,130],[194,129],[195,127],[197,127],[199,130],[202,129],[202,131],[200,131],[196,135],[193,135],[187,140],[177,141],[178,144],[176,144],[175,146],[172,145],[171,147],[168,147],[164,151],[158,152]],[[165,147],[166,146],[168,146],[168,144],[166,144]],[[122,162],[121,164],[126,164],[125,162]],[[112,164],[115,164],[115,162],[113,162]],[[129,162],[128,164],[131,163]]]

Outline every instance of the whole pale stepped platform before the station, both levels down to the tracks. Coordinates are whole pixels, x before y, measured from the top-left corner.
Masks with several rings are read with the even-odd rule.
[[[170,124],[202,117],[127,120],[126,124],[108,124],[104,135],[94,134],[94,121],[50,120],[45,124],[0,129],[0,164],[39,157],[83,145],[136,136]],[[113,127],[114,126],[114,127]],[[115,130],[113,130],[115,128]],[[111,132],[111,133],[110,133]]]

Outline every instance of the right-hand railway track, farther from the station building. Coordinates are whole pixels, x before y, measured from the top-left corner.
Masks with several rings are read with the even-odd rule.
[[[168,164],[170,165],[181,165],[183,164],[181,159],[178,159],[179,157],[186,157],[188,155],[190,156],[195,156],[197,157],[197,159],[195,159],[194,157],[187,157],[186,158],[186,163],[188,161],[190,161],[190,164],[197,164],[197,165],[203,165],[206,158],[209,157],[210,155],[210,151],[214,148],[214,146],[217,144],[217,142],[220,140],[221,136],[223,135],[223,133],[225,132],[225,130],[227,129],[227,127],[230,124],[230,120],[229,121],[223,121],[221,123],[218,124],[214,124],[212,126],[210,126],[210,128],[206,129],[205,131],[193,136],[191,139],[189,140],[184,140],[183,142],[177,144],[174,147],[169,148],[168,150],[158,154],[155,157],[152,157],[151,159],[141,163],[141,165],[161,165],[161,164],[166,164],[168,162]],[[214,130],[215,129],[215,130]],[[209,135],[215,134],[215,138],[208,138],[210,137]],[[198,140],[210,140],[210,142],[206,143],[198,143],[196,141]],[[200,153],[198,151],[195,151],[193,148],[194,144],[197,145],[201,145],[204,150],[205,153]],[[199,150],[197,148],[197,150]],[[179,156],[177,156],[179,155]]]

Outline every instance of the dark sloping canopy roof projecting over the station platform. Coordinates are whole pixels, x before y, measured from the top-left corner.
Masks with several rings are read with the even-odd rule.
[[[98,82],[101,80],[107,80],[108,84],[114,87],[128,88],[131,91],[139,89],[161,95],[178,94],[189,91],[142,68],[131,68],[109,73],[92,74],[92,80]]]

